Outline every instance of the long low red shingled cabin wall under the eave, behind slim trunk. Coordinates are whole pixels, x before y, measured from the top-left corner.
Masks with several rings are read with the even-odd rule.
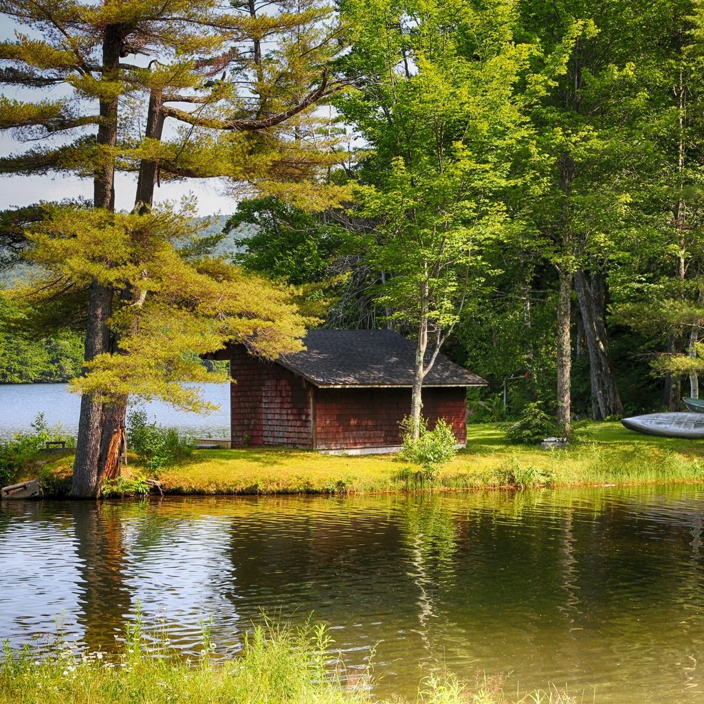
[[[399,422],[410,412],[410,389],[314,389],[315,447],[391,447],[401,444]],[[463,387],[423,389],[429,428],[443,417],[458,442],[467,441],[467,401]]]

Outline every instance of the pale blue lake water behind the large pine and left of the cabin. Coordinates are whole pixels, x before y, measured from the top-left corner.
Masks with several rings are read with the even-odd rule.
[[[185,413],[155,401],[144,408],[149,420],[159,425],[177,427],[186,433],[230,436],[230,385],[203,384],[203,397],[218,404],[220,410],[210,415]],[[38,413],[50,427],[57,423],[66,432],[76,434],[80,396],[71,394],[65,384],[0,384],[0,439],[9,439],[19,431],[31,430]]]

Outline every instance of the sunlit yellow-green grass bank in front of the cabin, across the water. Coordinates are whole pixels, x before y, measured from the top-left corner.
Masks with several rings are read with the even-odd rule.
[[[704,440],[631,432],[593,422],[561,450],[509,444],[505,425],[470,425],[467,448],[429,482],[420,467],[394,455],[322,455],[288,448],[196,451],[188,460],[148,474],[130,457],[129,472],[156,479],[165,494],[351,494],[604,484],[704,482]],[[71,458],[44,469],[50,491],[70,476]]]

